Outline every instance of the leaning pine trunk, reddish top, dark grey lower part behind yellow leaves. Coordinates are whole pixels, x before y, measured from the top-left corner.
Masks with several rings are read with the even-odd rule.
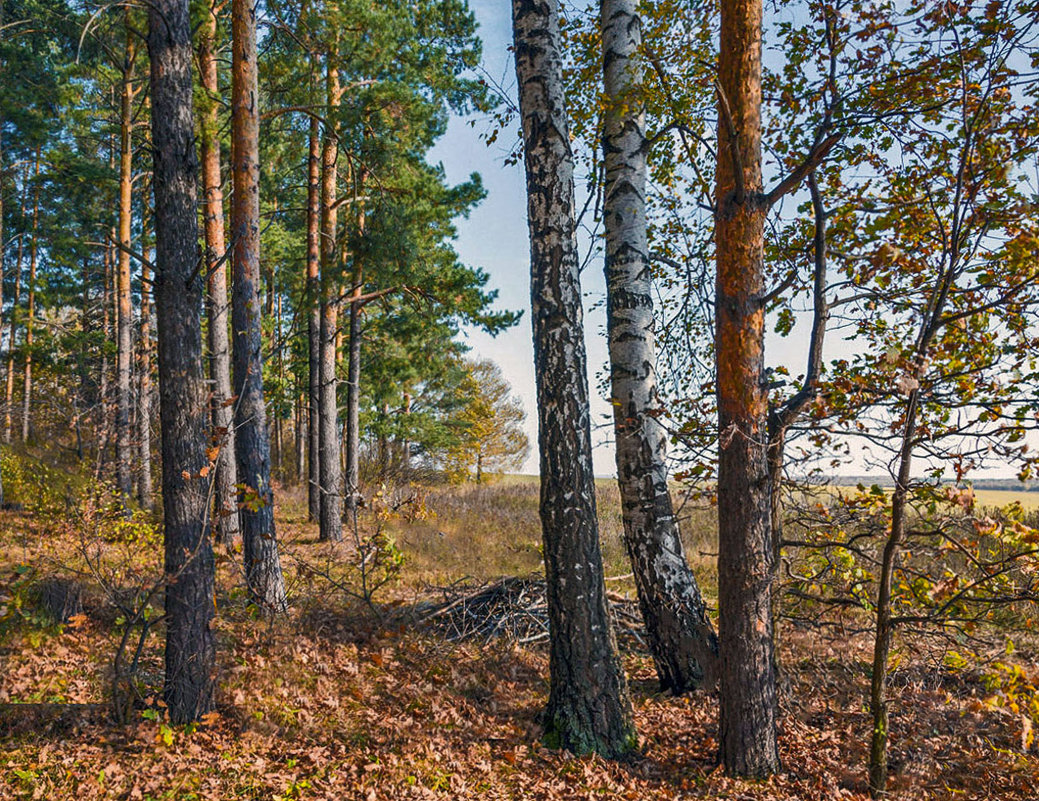
[[[235,270],[234,330],[235,452],[244,485],[241,510],[245,579],[254,599],[268,612],[287,607],[274,531],[270,485],[270,442],[263,398],[263,338],[260,325],[260,98],[257,85],[256,6],[233,0],[231,136],[234,196],[232,253]]]

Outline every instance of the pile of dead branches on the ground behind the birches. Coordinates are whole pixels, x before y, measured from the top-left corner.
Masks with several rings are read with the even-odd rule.
[[[510,576],[474,584],[461,580],[432,588],[439,600],[423,604],[418,624],[451,641],[489,643],[505,638],[520,644],[549,638],[549,602],[543,578]],[[625,647],[645,643],[642,617],[633,598],[608,592],[617,639]]]

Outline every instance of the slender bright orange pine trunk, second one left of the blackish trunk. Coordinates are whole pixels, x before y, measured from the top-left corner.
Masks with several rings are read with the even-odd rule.
[[[133,496],[133,431],[131,427],[131,370],[133,359],[133,300],[130,289],[130,245],[133,224],[133,70],[136,45],[125,10],[126,48],[119,91],[119,251],[116,265],[115,352],[115,483],[124,501]]]

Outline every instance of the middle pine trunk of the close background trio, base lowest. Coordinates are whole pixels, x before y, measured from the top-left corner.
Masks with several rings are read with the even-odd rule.
[[[328,56],[326,88],[328,117],[339,104],[339,69],[336,53]],[[340,469],[339,413],[336,380],[336,338],[339,333],[339,292],[342,283],[337,259],[336,187],[338,148],[334,131],[325,131],[321,153],[321,358],[319,449],[321,461],[320,538],[343,538],[343,492]]]

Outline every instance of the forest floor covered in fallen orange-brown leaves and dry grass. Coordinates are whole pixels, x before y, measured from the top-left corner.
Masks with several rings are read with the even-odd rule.
[[[715,698],[657,693],[648,656],[631,643],[624,663],[640,752],[627,763],[577,758],[538,743],[543,641],[451,641],[417,624],[463,577],[539,569],[534,484],[379,498],[365,531],[381,519],[395,544],[383,551],[404,561],[371,606],[355,597],[354,545],[318,543],[303,499],[278,498],[292,610],[263,620],[244,596],[237,558],[218,556],[219,705],[186,727],[165,723],[156,704],[156,626],[128,679],[150,705],[137,703],[125,723],[112,717],[113,659],[127,625],[118,604],[133,607],[159,575],[152,527],[113,523],[89,504],[64,515],[0,512],[0,799],[867,797],[867,638],[782,632],[783,772],[769,781],[724,777]],[[601,487],[600,503],[607,575],[620,596],[631,587],[615,489]],[[697,512],[686,526],[709,594],[710,524]],[[54,576],[84,587],[82,611],[64,624],[34,606]],[[152,606],[154,620],[161,602]],[[130,634],[128,657],[140,626]],[[987,703],[979,680],[936,667],[940,659],[923,647],[903,643],[901,655],[890,797],[1036,798],[1039,758],[1024,719]]]

